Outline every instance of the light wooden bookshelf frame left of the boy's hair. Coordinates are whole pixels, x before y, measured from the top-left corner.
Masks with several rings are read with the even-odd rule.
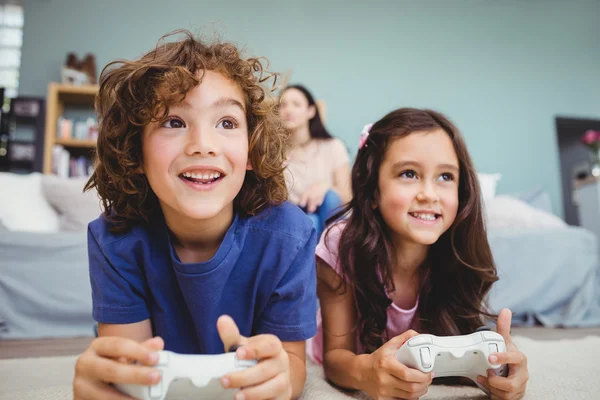
[[[94,148],[95,141],[79,139],[62,139],[57,137],[58,118],[63,114],[65,106],[94,107],[98,93],[98,85],[67,85],[51,82],[48,84],[46,99],[46,135],[44,142],[44,173],[52,173],[52,149],[54,145],[69,148]]]

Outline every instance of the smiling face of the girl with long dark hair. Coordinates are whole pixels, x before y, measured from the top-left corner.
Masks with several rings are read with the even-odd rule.
[[[377,207],[395,239],[430,245],[446,232],[458,210],[459,173],[452,140],[441,129],[390,142]]]

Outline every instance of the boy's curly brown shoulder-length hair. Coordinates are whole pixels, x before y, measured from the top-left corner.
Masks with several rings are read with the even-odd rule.
[[[175,42],[164,39],[183,34]],[[283,177],[289,135],[276,115],[276,104],[264,84],[277,75],[259,58],[244,59],[231,43],[203,43],[189,31],[162,37],[139,60],[109,63],[100,75],[96,96],[99,133],[94,173],[84,190],[96,188],[111,231],[125,232],[147,223],[159,211],[156,195],[142,171],[142,131],[161,121],[169,106],[184,100],[202,80],[198,71],[215,71],[235,81],[245,94],[248,158],[252,170],[234,201],[236,212],[256,215],[268,205],[287,199]],[[200,76],[198,76],[200,75]]]

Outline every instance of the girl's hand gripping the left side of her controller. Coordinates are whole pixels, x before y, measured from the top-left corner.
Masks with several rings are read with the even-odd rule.
[[[396,351],[417,332],[409,330],[396,336],[370,354],[363,389],[373,399],[418,399],[425,395],[432,374],[409,368],[396,360]]]

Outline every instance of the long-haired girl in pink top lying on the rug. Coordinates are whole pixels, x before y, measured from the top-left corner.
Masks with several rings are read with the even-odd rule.
[[[322,326],[309,350],[341,387],[418,398],[433,377],[400,364],[396,350],[412,329],[474,332],[492,316],[484,300],[498,278],[476,173],[456,127],[437,112],[403,108],[369,128],[352,169],[352,200],[336,216],[347,219],[317,246]],[[503,310],[497,324],[509,351],[490,356],[509,364],[509,376],[480,377],[503,399],[521,398],[528,379],[510,319]]]

